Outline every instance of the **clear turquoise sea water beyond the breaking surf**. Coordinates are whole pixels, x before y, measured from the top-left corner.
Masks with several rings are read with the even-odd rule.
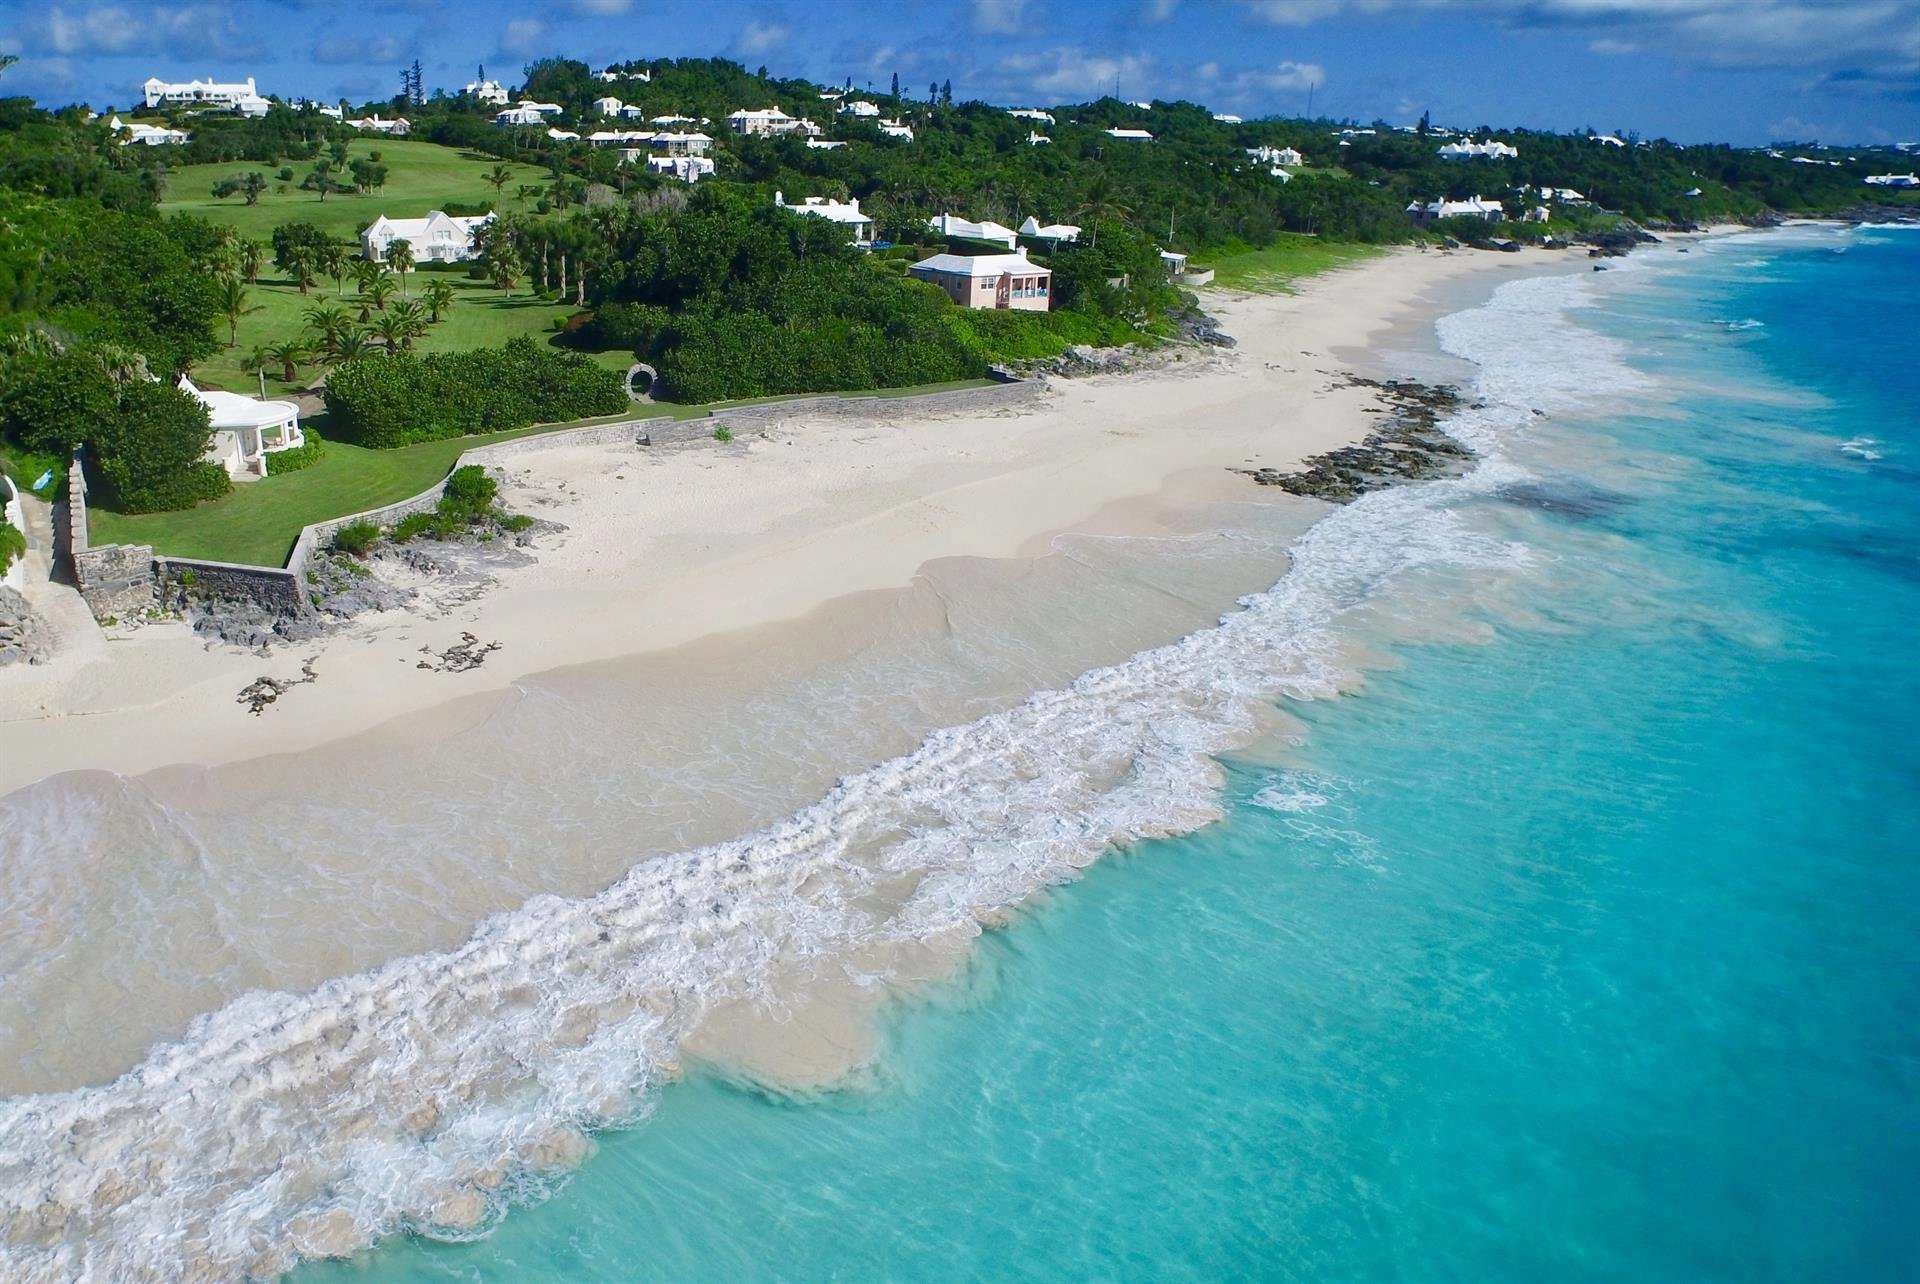
[[[301,1278],[1912,1278],[1920,234],[1524,284],[1597,305],[1442,326],[1549,411],[1442,501],[1524,555],[1382,580],[1394,664],[1219,823],[843,1092],[695,1073],[490,1238]]]

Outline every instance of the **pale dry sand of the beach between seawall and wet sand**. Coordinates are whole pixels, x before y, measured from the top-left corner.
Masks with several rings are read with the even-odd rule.
[[[75,770],[300,752],[557,668],[801,620],[908,585],[941,557],[1031,557],[1062,534],[1121,534],[1169,495],[1252,486],[1229,468],[1284,468],[1359,441],[1371,397],[1329,386],[1350,372],[1342,357],[1430,324],[1448,286],[1571,267],[1555,251],[1396,251],[1292,296],[1223,296],[1210,303],[1238,349],[1196,353],[1196,372],[1054,382],[1012,415],[797,418],[718,449],[526,453],[503,501],[568,528],[532,549],[532,566],[499,572],[476,599],[380,612],[265,658],[167,622],[13,670],[0,679],[0,729],[33,737],[35,754],[0,766],[0,795]],[[1290,422],[1260,422],[1283,407]],[[463,633],[501,647],[461,674],[415,670],[422,649]],[[315,681],[248,712],[242,689],[298,681],[305,664]]]

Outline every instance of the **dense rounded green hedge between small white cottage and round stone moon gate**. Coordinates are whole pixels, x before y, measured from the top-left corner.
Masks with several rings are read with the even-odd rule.
[[[618,374],[526,336],[463,353],[359,357],[326,378],[336,430],[369,447],[591,418],[626,405]]]

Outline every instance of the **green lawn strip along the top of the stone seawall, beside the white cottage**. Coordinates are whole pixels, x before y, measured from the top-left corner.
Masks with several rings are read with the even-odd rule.
[[[624,418],[624,415],[582,422],[611,422],[612,418]],[[303,426],[307,432],[324,436],[326,416],[315,416]],[[516,432],[422,441],[392,451],[369,451],[346,441],[328,441],[326,453],[309,468],[238,484],[228,495],[180,512],[127,516],[88,509],[88,535],[96,545],[146,543],[156,553],[171,553],[173,557],[284,566],[286,555],[300,539],[301,526],[419,495],[447,476],[461,451],[476,445],[572,426],[576,424],[543,424]]]

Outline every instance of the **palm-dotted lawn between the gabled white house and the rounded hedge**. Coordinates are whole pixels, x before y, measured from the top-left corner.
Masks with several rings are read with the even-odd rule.
[[[273,269],[269,269],[271,273]],[[507,340],[518,334],[532,334],[536,340],[547,340],[553,334],[553,322],[574,315],[578,309],[570,303],[553,303],[549,299],[534,297],[526,294],[524,286],[520,290],[495,290],[493,286],[468,280],[465,273],[407,273],[407,297],[417,299],[430,280],[444,280],[453,286],[455,303],[453,309],[444,313],[440,324],[432,326],[424,336],[413,342],[413,349],[419,353],[432,351],[463,351],[468,347],[499,347]],[[399,301],[399,296],[394,296]],[[338,294],[332,278],[321,280],[313,286],[311,294],[301,294],[300,288],[275,274],[263,274],[259,284],[248,286],[248,303],[257,305],[261,311],[248,313],[240,319],[240,342],[232,347],[223,347],[213,357],[194,367],[194,380],[211,388],[227,388],[232,392],[259,393],[259,376],[248,369],[246,359],[253,347],[276,344],[286,338],[311,338],[305,322],[305,311],[317,305],[338,305],[359,315],[359,294],[355,292],[353,280],[348,278],[346,294]],[[378,317],[378,313],[374,313]],[[215,319],[215,336],[221,344],[227,342],[227,321]],[[634,357],[628,351],[614,351],[605,355],[595,355],[609,369],[626,370]],[[284,384],[278,378],[278,370],[267,372],[267,395],[286,395],[292,390],[305,388],[321,376],[319,367],[303,365],[296,369],[298,376],[294,384]]]

